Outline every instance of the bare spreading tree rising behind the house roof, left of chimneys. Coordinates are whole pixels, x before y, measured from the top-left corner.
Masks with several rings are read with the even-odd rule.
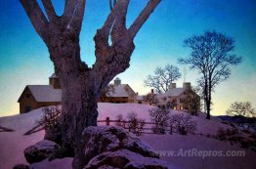
[[[155,89],[156,93],[167,92],[171,84],[182,76],[179,67],[166,64],[165,67],[156,67],[153,75],[144,80],[144,85]]]

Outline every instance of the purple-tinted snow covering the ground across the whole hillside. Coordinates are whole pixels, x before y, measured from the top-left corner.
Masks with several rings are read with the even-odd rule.
[[[149,120],[149,108],[138,104],[99,104],[99,120],[105,120],[106,117],[115,119],[117,114],[123,114],[124,117],[129,112],[136,112],[138,117]],[[183,113],[173,110],[171,113]],[[42,115],[41,109],[32,110],[29,113],[0,118],[0,125],[15,129],[15,132],[0,133],[0,169],[12,169],[15,164],[26,163],[23,157],[23,149],[33,145],[43,139],[44,131],[23,136],[22,134],[36,125],[36,120]],[[193,117],[197,122],[197,134],[216,134],[219,127],[229,128],[222,124],[218,119],[206,120],[202,114],[199,117]],[[99,124],[103,125],[103,123]],[[222,150],[224,153],[229,150],[245,150],[245,156],[242,157],[220,157],[211,156],[191,156],[191,155],[164,155],[161,158],[180,169],[254,169],[256,167],[256,153],[232,146],[229,143],[218,140],[201,137],[199,135],[180,136],[180,135],[144,135],[141,139],[155,150],[169,150],[178,153],[181,150]],[[34,169],[62,168],[70,169],[71,158],[54,160],[51,163],[43,161],[33,164]],[[43,164],[43,165],[42,165]],[[60,166],[61,165],[61,166]],[[47,166],[47,167],[46,167]]]

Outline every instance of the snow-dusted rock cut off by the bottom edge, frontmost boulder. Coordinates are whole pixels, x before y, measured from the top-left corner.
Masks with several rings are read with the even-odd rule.
[[[84,169],[168,169],[166,162],[127,149],[108,151],[95,156]]]

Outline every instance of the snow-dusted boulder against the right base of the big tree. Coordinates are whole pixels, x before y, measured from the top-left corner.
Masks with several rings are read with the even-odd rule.
[[[85,145],[86,163],[100,153],[118,149],[128,149],[144,156],[157,157],[152,148],[131,136],[121,127],[87,127],[82,134],[82,142]]]

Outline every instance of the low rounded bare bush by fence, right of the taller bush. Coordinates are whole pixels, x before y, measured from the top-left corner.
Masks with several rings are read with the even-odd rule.
[[[175,114],[170,117],[170,131],[181,135],[193,133],[196,129],[196,122],[190,114]]]

